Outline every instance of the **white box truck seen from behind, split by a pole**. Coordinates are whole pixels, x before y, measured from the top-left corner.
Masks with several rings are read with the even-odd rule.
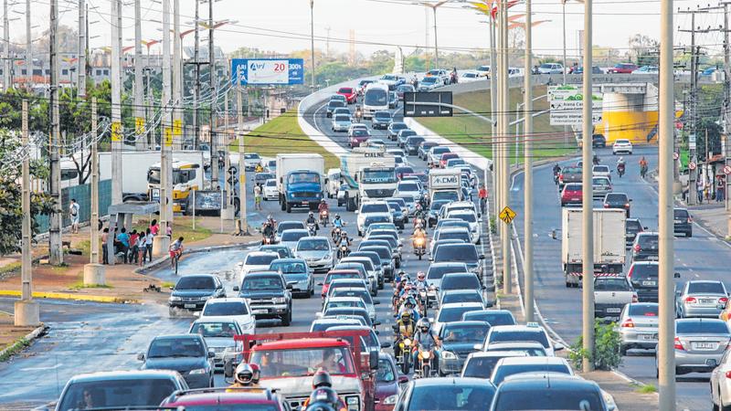
[[[561,224],[561,263],[567,287],[578,287],[582,277],[582,210],[564,208]],[[594,209],[594,272],[621,273],[624,268],[624,210]]]

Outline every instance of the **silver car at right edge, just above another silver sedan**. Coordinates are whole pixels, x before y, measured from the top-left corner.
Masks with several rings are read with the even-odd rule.
[[[726,286],[721,281],[692,280],[675,291],[675,314],[678,318],[718,318],[728,302]]]

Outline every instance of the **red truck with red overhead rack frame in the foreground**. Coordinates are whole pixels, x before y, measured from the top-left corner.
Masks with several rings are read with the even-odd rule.
[[[376,407],[378,352],[368,352],[367,330],[330,332],[282,332],[237,335],[243,361],[258,364],[260,385],[283,395],[292,409],[302,406],[313,390],[313,375],[323,369],[333,379],[333,389],[348,411],[372,411]],[[226,375],[233,374],[233,364]]]

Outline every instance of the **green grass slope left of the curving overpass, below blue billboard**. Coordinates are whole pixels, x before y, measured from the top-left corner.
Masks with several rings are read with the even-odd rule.
[[[259,153],[264,157],[276,157],[278,153],[318,153],[325,159],[325,170],[340,167],[337,157],[302,132],[297,122],[296,108],[247,134],[244,147],[247,152]],[[232,142],[230,150],[238,152],[238,142]]]

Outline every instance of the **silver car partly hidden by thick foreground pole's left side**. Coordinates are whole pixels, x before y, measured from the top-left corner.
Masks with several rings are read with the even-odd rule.
[[[620,314],[620,353],[627,350],[652,349],[657,346],[656,302],[631,302],[624,306]]]

